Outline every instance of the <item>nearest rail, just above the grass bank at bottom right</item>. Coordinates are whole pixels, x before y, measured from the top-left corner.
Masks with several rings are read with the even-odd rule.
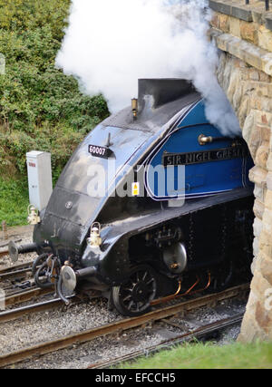
[[[244,314],[236,314],[234,316],[228,317],[223,320],[216,321],[215,323],[206,324],[203,326],[199,326],[199,328],[190,331],[186,334],[180,334],[177,337],[174,337],[170,340],[166,340],[160,344],[152,345],[148,348],[145,348],[141,351],[136,351],[134,353],[128,353],[124,356],[120,356],[118,358],[108,360],[101,363],[92,363],[87,369],[104,369],[112,366],[120,365],[125,362],[133,362],[142,356],[151,356],[152,354],[158,353],[162,350],[170,350],[173,346],[180,345],[184,342],[190,342],[194,339],[201,339],[209,334],[215,334],[223,329],[226,329],[230,326],[240,324],[243,320]],[[181,328],[181,327],[180,327]]]

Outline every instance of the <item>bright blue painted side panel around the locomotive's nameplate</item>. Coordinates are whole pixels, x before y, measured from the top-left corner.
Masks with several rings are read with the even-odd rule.
[[[198,124],[202,125],[196,126]],[[200,134],[223,138],[220,131],[207,120],[205,106],[202,101],[198,102],[189,111],[183,120],[180,121],[178,128],[172,131],[170,136],[162,140],[160,148],[151,155],[151,166],[155,168],[161,165],[164,151],[168,153],[187,153],[218,150],[230,147],[233,142],[231,139],[225,140],[223,138],[221,141],[201,146],[199,145]],[[209,161],[187,165],[185,167],[185,196],[187,198],[195,198],[248,187],[251,185],[248,180],[248,169],[252,168],[252,166],[253,162],[250,156],[244,159]],[[178,174],[182,173],[183,168],[171,167],[171,169],[174,169],[175,189],[178,189]],[[165,176],[167,176],[166,168],[164,169]],[[152,198],[163,200],[184,197],[184,189],[177,190],[178,194],[176,192],[173,195],[172,191],[167,187],[166,180],[167,178],[155,179],[155,183],[152,184],[151,169],[147,169],[146,187]]]

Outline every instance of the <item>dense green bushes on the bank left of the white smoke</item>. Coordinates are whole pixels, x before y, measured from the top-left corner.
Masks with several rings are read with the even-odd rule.
[[[25,153],[52,153],[53,177],[87,132],[109,114],[54,67],[70,0],[0,0],[0,173],[25,176]]]

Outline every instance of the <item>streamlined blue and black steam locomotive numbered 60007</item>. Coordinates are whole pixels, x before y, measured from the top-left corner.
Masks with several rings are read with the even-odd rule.
[[[75,150],[47,208],[35,214],[41,287],[104,296],[120,314],[248,276],[253,166],[242,138],[224,137],[199,92],[180,79],[141,79],[138,99]]]

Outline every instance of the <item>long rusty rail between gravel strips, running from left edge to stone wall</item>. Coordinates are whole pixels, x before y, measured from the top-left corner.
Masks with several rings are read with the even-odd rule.
[[[120,333],[131,328],[160,321],[176,314],[185,314],[186,312],[197,309],[201,306],[214,305],[219,301],[245,294],[248,292],[248,290],[248,284],[238,285],[216,295],[201,296],[194,300],[189,300],[178,305],[171,305],[156,309],[149,314],[144,314],[139,317],[123,319],[116,323],[98,326],[96,328],[61,337],[57,340],[49,341],[47,343],[40,343],[29,348],[24,348],[14,353],[5,353],[4,355],[0,356],[0,367],[23,362],[24,360],[28,360],[36,356],[41,356],[46,353],[53,353],[61,349],[65,349],[75,343],[90,342],[93,339],[102,336]]]

